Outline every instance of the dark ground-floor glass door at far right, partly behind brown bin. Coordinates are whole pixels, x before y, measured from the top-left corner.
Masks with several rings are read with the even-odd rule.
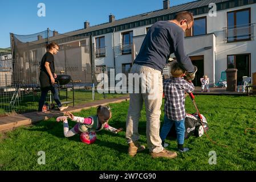
[[[242,55],[228,55],[227,68],[235,68],[237,71],[237,84],[239,85],[243,80],[243,76],[250,76],[250,54]]]

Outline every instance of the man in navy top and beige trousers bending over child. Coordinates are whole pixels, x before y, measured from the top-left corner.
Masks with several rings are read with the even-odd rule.
[[[151,156],[169,159],[177,156],[176,152],[165,150],[162,147],[159,135],[163,89],[161,72],[170,54],[174,53],[178,63],[188,72],[187,77],[190,77],[190,80],[194,79],[194,66],[184,51],[184,32],[193,26],[193,22],[193,15],[188,11],[183,11],[178,13],[173,20],[156,22],[149,28],[145,36],[140,52],[133,62],[131,73],[157,76],[157,79],[151,83],[151,87],[158,86],[158,89],[154,93],[150,93],[148,90],[143,93],[140,89],[139,93],[129,94],[125,137],[129,144],[128,154],[130,156],[135,156],[137,152],[145,149],[145,146],[138,142],[140,137],[138,125],[143,102],[147,117],[147,144]],[[147,77],[144,81],[148,84],[152,79]],[[143,84],[145,84],[143,80],[139,82],[140,88]],[[138,89],[135,88],[135,84],[129,86],[132,86],[133,90]]]

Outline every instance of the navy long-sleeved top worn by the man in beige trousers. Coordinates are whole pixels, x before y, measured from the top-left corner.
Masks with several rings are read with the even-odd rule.
[[[149,28],[140,52],[133,63],[162,71],[172,53],[186,71],[194,72],[193,64],[184,51],[182,28],[169,21],[159,21]]]

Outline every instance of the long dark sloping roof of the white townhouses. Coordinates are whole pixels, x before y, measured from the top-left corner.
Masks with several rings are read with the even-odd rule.
[[[248,5],[250,3],[256,3],[256,0],[245,0],[245,1],[238,1],[238,0],[199,0],[193,1],[189,3],[184,3],[182,5],[172,6],[169,9],[161,9],[156,11],[151,11],[144,14],[139,14],[135,16],[130,16],[128,18],[123,18],[119,20],[115,20],[112,23],[103,23],[92,27],[87,27],[86,29],[76,30],[67,32],[65,34],[68,35],[100,35],[100,34],[107,34],[113,31],[115,27],[116,31],[125,30],[129,28],[135,28],[140,26],[145,26],[147,24],[153,24],[157,20],[169,20],[174,17],[174,15],[180,11],[190,11],[194,15],[198,14],[205,14],[209,12],[209,4],[216,3],[217,11],[218,10],[225,10],[233,7]],[[158,19],[156,19],[158,18]],[[146,22],[147,20],[147,22]],[[144,21],[144,23],[142,22]],[[134,24],[137,22],[137,24]],[[142,22],[142,24],[141,24]],[[134,25],[128,25],[133,23]],[[125,26],[127,25],[127,26]],[[121,27],[123,26],[123,28]],[[125,27],[124,27],[125,26]],[[102,30],[102,31],[100,31]]]

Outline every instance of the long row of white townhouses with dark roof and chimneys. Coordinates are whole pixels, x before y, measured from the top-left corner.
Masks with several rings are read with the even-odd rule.
[[[84,22],[83,29],[66,35],[92,37],[96,68],[113,68],[115,74],[128,73],[152,24],[171,20],[180,11],[190,11],[194,15],[194,26],[184,33],[184,44],[186,54],[198,68],[194,80],[196,86],[201,85],[203,75],[208,75],[213,85],[227,68],[238,69],[238,83],[243,76],[256,72],[256,0],[201,0],[178,6],[171,6],[172,2],[165,0],[162,5],[161,10],[119,20],[111,14],[108,23],[97,26]],[[55,36],[57,39],[58,35]],[[89,44],[89,40],[84,41],[77,41],[78,46]],[[82,54],[77,52],[76,55],[85,57],[81,64],[90,63],[90,55],[79,50]],[[40,52],[42,56],[43,52]],[[175,59],[174,55],[170,57]],[[74,58],[72,62],[77,60]],[[168,72],[168,68],[165,71]]]

